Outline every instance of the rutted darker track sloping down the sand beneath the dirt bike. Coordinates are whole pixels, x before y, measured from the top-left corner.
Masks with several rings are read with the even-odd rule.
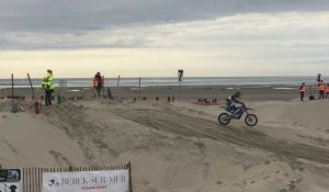
[[[116,115],[159,131],[184,136],[226,140],[236,145],[263,149],[279,156],[304,158],[329,163],[329,150],[305,144],[287,144],[247,128],[222,126],[216,122],[196,118],[172,110],[118,110]]]

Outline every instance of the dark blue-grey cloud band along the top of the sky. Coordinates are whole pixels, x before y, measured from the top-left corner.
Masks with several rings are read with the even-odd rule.
[[[328,8],[326,0],[0,0],[0,30],[69,33],[246,12]]]

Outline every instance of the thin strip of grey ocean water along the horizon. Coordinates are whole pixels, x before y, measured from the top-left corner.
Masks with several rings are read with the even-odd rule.
[[[184,77],[181,82],[182,86],[298,86],[300,82],[306,84],[315,84],[316,76],[300,76],[300,77]],[[329,77],[324,77],[329,79]],[[91,87],[91,78],[54,78],[55,87],[58,87],[60,82],[65,82],[67,87]],[[41,87],[41,79],[32,79],[34,87]],[[139,78],[106,78],[105,87],[138,87]],[[157,86],[180,86],[177,77],[159,77],[159,78],[140,78],[141,87],[157,87]],[[30,87],[29,79],[15,79],[15,87]],[[0,79],[0,88],[11,87],[10,79]]]

